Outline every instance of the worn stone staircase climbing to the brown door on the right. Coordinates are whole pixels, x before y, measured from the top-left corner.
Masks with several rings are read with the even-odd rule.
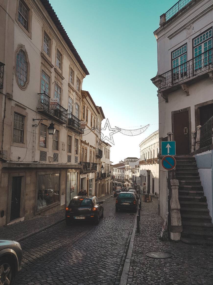
[[[213,245],[212,217],[209,215],[196,160],[191,156],[176,156],[175,158],[183,226],[181,241]]]

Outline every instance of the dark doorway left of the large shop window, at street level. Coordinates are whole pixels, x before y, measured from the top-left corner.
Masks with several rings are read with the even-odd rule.
[[[11,213],[10,220],[20,217],[20,202],[21,202],[21,184],[22,177],[12,177],[12,196],[11,196]]]

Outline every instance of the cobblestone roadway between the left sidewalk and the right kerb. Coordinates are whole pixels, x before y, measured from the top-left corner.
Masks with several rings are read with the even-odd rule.
[[[20,242],[22,270],[12,285],[119,284],[135,215],[104,202],[99,225],[65,221]]]

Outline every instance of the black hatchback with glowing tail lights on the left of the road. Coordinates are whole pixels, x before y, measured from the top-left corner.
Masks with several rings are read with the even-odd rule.
[[[67,225],[80,220],[92,220],[98,224],[99,218],[103,216],[103,201],[99,201],[95,196],[75,196],[66,207],[65,213]]]

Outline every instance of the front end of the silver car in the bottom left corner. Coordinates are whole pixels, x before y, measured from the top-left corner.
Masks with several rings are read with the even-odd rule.
[[[0,240],[0,284],[11,284],[21,270],[22,249],[17,241]]]

